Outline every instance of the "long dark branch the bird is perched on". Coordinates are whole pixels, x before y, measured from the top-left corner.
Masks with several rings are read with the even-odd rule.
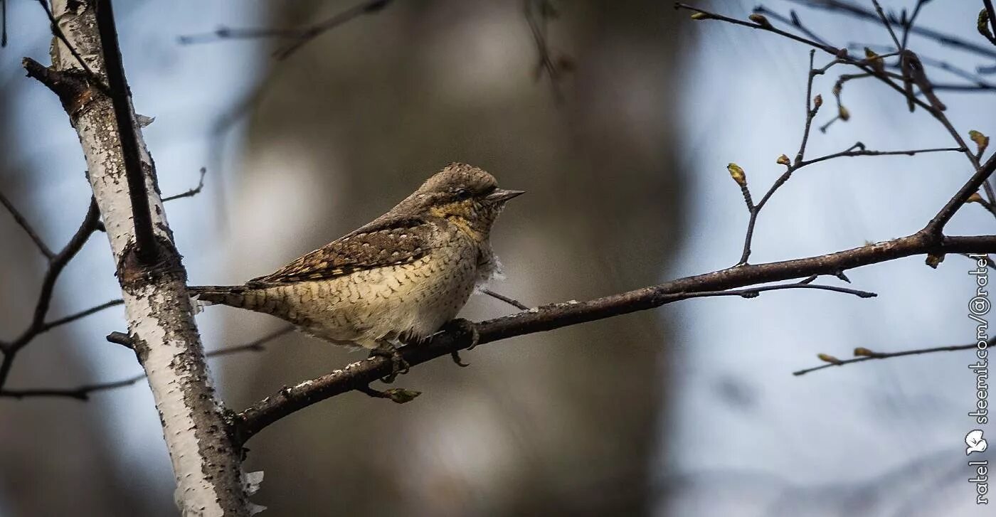
[[[827,255],[736,266],[588,302],[553,304],[481,322],[475,324],[477,344],[645,311],[694,298],[696,293],[703,291],[723,292],[748,285],[812,275],[836,276],[847,269],[911,255],[988,253],[991,250],[996,250],[996,235],[945,237],[941,242],[935,243],[922,234],[914,234]],[[415,366],[435,358],[449,356],[452,352],[466,349],[471,344],[472,337],[466,332],[445,332],[437,334],[423,345],[402,347],[400,353],[410,366]],[[239,413],[236,422],[238,438],[244,442],[284,416],[337,394],[365,388],[390,372],[390,360],[373,358],[291,388],[282,388]]]

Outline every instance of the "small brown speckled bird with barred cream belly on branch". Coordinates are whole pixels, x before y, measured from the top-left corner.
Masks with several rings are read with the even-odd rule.
[[[189,293],[198,305],[270,314],[327,342],[390,358],[389,382],[407,371],[395,344],[469,323],[454,318],[476,287],[501,273],[492,225],[523,193],[499,188],[481,168],[449,163],[383,215],[271,274]]]

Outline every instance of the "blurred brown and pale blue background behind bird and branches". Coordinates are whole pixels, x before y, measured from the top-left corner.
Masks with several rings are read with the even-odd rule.
[[[207,168],[202,193],[166,206],[191,284],[269,273],[464,161],[529,192],[496,226],[507,275],[496,291],[530,306],[617,293],[736,262],[747,213],[727,162],[747,170],[758,194],[781,172],[775,158],[799,145],[807,49],[692,22],[670,2],[555,2],[546,40],[566,69],[556,88],[537,73],[519,0],[397,0],[285,60],[272,56],[279,40],[178,41],[219,26],[299,27],[355,3],[116,3],[135,109],[155,118],[143,133],[163,193],[194,186]],[[697,5],[740,18],[754,7]],[[888,41],[877,24],[787,1],[766,6],[798,9],[837,44]],[[48,62],[44,12],[29,1],[7,7],[0,189],[61,247],[89,202],[86,165],[58,101],[19,65],[23,56]],[[979,8],[933,2],[920,23],[985,45],[974,29]],[[969,70],[990,64],[916,36],[911,47]],[[818,124],[832,116],[835,79],[815,86],[828,101]],[[996,97],[942,99],[963,133],[996,132]],[[874,149],[953,144],[880,84],[850,83],[845,103],[852,120],[814,131],[811,156],[858,140]],[[752,262],[911,233],[960,186],[966,165],[952,153],[807,167],[760,217]],[[991,233],[992,220],[971,205],[949,229]],[[8,214],[0,236],[0,339],[9,339],[30,318],[45,264]],[[971,354],[791,375],[816,366],[819,352],[970,342],[970,266],[953,256],[932,270],[910,258],[848,273],[874,299],[804,291],[690,300],[481,347],[463,355],[467,369],[430,363],[395,383],[424,392],[412,403],[347,393],[255,437],[246,467],[266,477],[253,501],[274,516],[983,515],[963,448],[974,428]],[[99,235],[64,273],[51,314],[118,297]],[[463,316],[513,311],[477,296]],[[198,324],[212,350],[281,322],[215,307]],[[119,307],[44,335],[19,356],[9,387],[138,373],[129,351],[104,340],[122,330]],[[211,369],[238,409],[362,357],[289,335]],[[88,402],[0,398],[0,515],[175,512],[145,385]]]

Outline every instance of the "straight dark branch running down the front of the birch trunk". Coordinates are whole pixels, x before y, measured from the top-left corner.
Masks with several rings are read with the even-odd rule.
[[[111,0],[97,0],[95,13],[108,73],[108,94],[114,106],[115,123],[122,144],[124,175],[127,178],[128,198],[131,201],[131,216],[134,219],[135,254],[143,264],[154,264],[158,260],[159,251],[152,228],[145,171],[141,166],[138,138],[131,117],[131,101],[127,82],[124,79],[124,64],[121,48],[118,46],[118,31],[115,29]]]

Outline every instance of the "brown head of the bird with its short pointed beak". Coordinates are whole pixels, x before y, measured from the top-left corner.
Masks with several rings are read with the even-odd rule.
[[[522,193],[524,190],[498,188],[494,176],[480,168],[450,163],[405,201],[413,201],[429,215],[445,218],[484,239],[505,203]]]

